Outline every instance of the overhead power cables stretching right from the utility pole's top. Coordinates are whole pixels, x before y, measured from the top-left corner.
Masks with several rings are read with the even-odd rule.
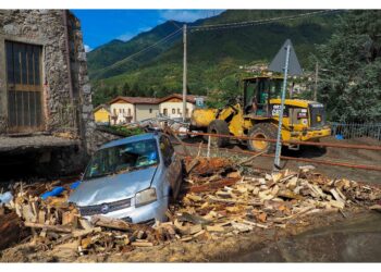
[[[243,22],[234,22],[234,23],[228,23],[228,24],[189,26],[189,28],[192,28],[190,32],[218,30],[218,29],[224,29],[224,28],[236,28],[236,27],[262,25],[262,24],[269,24],[269,23],[276,22],[276,21],[285,21],[285,20],[291,21],[291,20],[296,20],[296,18],[300,18],[300,17],[308,17],[308,16],[315,16],[318,14],[328,14],[328,13],[335,13],[335,12],[340,12],[340,10],[315,11],[315,12],[307,12],[307,13],[302,13],[302,14],[297,14],[297,15],[271,17],[271,18],[256,20],[256,21],[243,21]]]

